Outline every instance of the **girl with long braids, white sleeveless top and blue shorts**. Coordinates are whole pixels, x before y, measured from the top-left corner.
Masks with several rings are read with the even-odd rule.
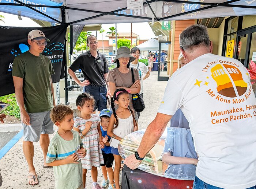
[[[115,110],[114,102],[118,105]],[[111,107],[113,114],[110,117],[107,134],[111,137],[110,146],[112,146],[111,153],[114,154],[115,168],[114,168],[114,181],[116,189],[119,186],[119,173],[121,169],[122,158],[118,153],[117,146],[119,141],[126,135],[138,130],[137,122],[135,121],[134,111],[129,107],[130,98],[129,91],[124,88],[119,88],[114,92],[111,98]]]

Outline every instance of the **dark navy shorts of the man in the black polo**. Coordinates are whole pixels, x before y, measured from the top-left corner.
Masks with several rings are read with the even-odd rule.
[[[95,87],[95,86],[84,86],[83,92],[87,92],[95,99],[94,111],[98,109],[101,111],[107,108],[107,88],[106,86]]]

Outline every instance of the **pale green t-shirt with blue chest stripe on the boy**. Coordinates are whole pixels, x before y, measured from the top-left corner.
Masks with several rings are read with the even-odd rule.
[[[73,133],[73,139],[71,141],[64,140],[58,132],[54,135],[48,147],[46,156],[47,164],[54,160],[63,160],[67,158],[68,155],[73,154],[78,145],[80,145],[80,147],[83,146],[79,133],[77,131],[71,131]],[[79,164],[53,166],[53,172],[56,189],[77,189],[83,182],[81,161],[79,161]]]

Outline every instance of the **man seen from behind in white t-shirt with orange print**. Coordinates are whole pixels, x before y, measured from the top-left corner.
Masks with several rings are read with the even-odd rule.
[[[193,188],[254,189],[256,98],[248,71],[236,59],[211,54],[203,25],[182,31],[180,50],[189,64],[169,79],[156,118],[125,164],[131,169],[140,165],[180,108],[199,156]]]

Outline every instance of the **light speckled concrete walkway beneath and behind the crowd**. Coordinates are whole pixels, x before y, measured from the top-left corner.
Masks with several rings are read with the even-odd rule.
[[[149,78],[144,80],[144,101],[146,108],[140,114],[139,129],[146,129],[148,124],[153,121],[161,99],[165,90],[167,82],[157,81],[157,72],[151,72]],[[75,95],[80,92],[71,92],[69,101],[76,99]],[[72,104],[72,101],[71,101]],[[74,103],[73,103],[74,104]],[[57,127],[55,127],[57,129]],[[52,138],[54,134],[50,135]],[[40,188],[40,189],[53,189],[54,174],[52,168],[44,169],[43,154],[39,142],[34,143],[34,165],[38,174],[39,184],[36,186],[30,186],[27,184],[28,167],[22,151],[23,137],[8,151],[7,154],[0,160],[1,174],[3,176],[3,185],[1,189],[28,189],[28,188]],[[72,177],[72,176],[71,176]],[[98,182],[102,181],[101,169],[98,169]],[[121,180],[121,177],[120,177]],[[92,179],[90,172],[87,173],[87,188],[91,189]]]

